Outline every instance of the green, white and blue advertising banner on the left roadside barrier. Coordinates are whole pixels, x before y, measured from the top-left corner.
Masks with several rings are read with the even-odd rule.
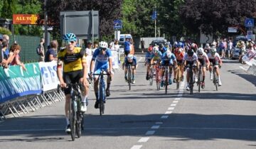
[[[0,67],[0,103],[18,96],[41,93],[38,63],[26,64],[25,67],[26,71],[20,66]]]

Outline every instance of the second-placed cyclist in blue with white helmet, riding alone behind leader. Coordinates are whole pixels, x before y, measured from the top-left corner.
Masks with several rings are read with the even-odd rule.
[[[92,74],[100,74],[101,70],[107,72],[107,89],[106,89],[106,96],[110,96],[110,82],[112,75],[112,54],[111,50],[107,48],[107,42],[101,41],[99,43],[100,47],[95,50],[92,55],[92,61],[90,63],[90,77]],[[94,70],[93,70],[94,69]],[[94,91],[96,96],[95,101],[95,109],[99,108],[99,76],[94,77]]]

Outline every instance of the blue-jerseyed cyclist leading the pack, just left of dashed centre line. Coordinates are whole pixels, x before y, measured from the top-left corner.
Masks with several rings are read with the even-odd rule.
[[[171,74],[172,74],[172,67],[175,65],[176,67],[177,61],[176,57],[171,51],[167,50],[162,56],[161,56],[161,87],[164,87],[164,66],[169,66],[169,80],[168,83],[172,84],[171,81]],[[175,77],[174,77],[175,79]]]

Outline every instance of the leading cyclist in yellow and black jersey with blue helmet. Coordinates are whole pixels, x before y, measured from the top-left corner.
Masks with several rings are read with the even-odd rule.
[[[84,50],[75,47],[77,38],[74,33],[63,35],[65,41],[65,49],[58,53],[57,74],[60,80],[60,87],[64,87],[65,93],[65,116],[67,127],[65,131],[69,133],[70,121],[68,118],[68,109],[70,105],[70,87],[67,84],[82,84],[82,106],[80,111],[87,111],[87,96],[89,92],[89,84],[87,82],[87,64]],[[62,68],[63,67],[63,68]]]

